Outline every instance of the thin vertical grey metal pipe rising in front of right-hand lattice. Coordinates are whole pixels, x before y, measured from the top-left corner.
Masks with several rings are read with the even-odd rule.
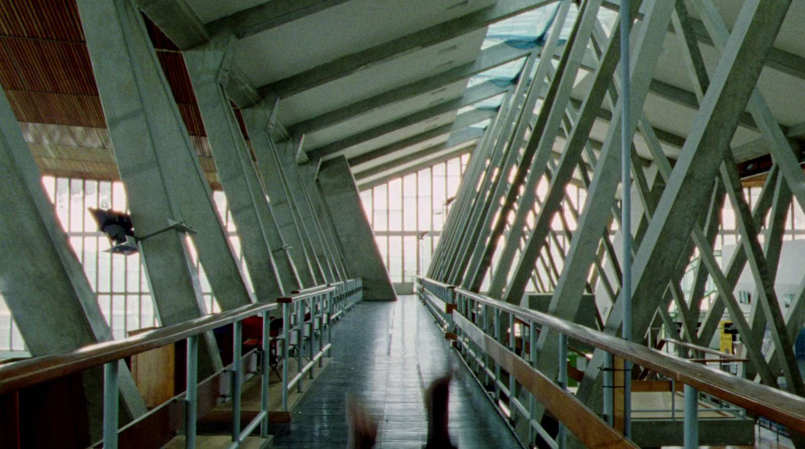
[[[623,279],[623,339],[632,340],[632,195],[631,195],[631,79],[630,79],[630,0],[621,0],[621,230],[623,254],[621,261]],[[632,378],[631,362],[624,360],[623,372],[623,435],[632,436]]]

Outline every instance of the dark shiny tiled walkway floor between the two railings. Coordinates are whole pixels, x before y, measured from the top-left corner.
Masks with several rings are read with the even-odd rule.
[[[413,295],[358,305],[333,327],[332,356],[316,391],[275,435],[273,447],[345,447],[350,394],[362,398],[381,423],[376,447],[419,449],[427,432],[423,390],[451,366],[453,443],[460,449],[520,447]]]

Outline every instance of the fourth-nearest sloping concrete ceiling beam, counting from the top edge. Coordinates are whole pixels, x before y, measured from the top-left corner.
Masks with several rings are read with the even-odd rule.
[[[431,108],[427,108],[416,113],[412,113],[406,117],[401,117],[391,122],[375,126],[370,130],[365,130],[349,137],[342,138],[336,142],[328,143],[327,145],[308,150],[308,158],[319,159],[328,156],[329,154],[335,154],[341,150],[346,150],[350,146],[356,146],[362,142],[368,142],[374,138],[380,138],[386,134],[402,130],[407,126],[424,122],[433,117],[438,117],[444,113],[451,113],[457,109],[463,108],[464,106],[473,105],[478,101],[483,101],[489,97],[494,97],[501,93],[505,93],[507,90],[508,87],[497,86],[489,81],[478,84],[477,86],[467,89],[464,93],[464,97],[445,101],[444,103],[432,106]]]

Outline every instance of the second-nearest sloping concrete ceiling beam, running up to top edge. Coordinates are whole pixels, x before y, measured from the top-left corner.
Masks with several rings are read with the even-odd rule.
[[[314,68],[277,80],[258,89],[263,96],[291,97],[297,93],[338,80],[362,69],[385,62],[411,51],[431,47],[449,39],[476,31],[491,23],[508,19],[527,10],[553,3],[555,0],[498,0],[493,6],[465,14],[456,19],[415,31],[386,43],[320,64]]]

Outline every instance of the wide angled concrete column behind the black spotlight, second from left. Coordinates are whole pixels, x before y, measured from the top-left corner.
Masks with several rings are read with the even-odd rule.
[[[201,265],[223,309],[252,302],[201,172],[140,11],[128,0],[78,2],[109,137],[141,240],[142,261],[163,325],[207,313],[192,274],[185,235],[168,220],[195,229]],[[213,336],[204,338],[200,372],[221,368]]]

